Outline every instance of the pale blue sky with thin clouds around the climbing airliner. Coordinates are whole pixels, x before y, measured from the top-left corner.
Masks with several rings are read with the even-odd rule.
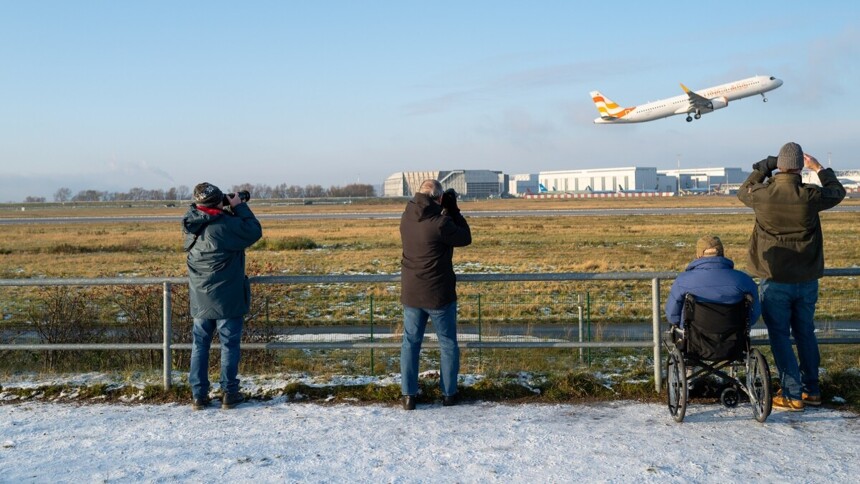
[[[860,168],[853,2],[0,1],[0,60],[0,201],[679,158],[749,169],[786,141]],[[592,124],[591,90],[635,105],[758,74],[785,82],[767,103]]]

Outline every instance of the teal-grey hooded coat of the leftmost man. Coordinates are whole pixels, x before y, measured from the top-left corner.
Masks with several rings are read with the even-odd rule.
[[[247,314],[251,285],[245,276],[245,249],[263,236],[248,205],[236,205],[233,214],[209,215],[192,204],[182,218],[182,229],[188,251],[191,316],[227,319]]]

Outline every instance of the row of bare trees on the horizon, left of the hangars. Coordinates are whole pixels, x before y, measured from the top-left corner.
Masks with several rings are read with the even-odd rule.
[[[323,188],[322,185],[280,185],[270,186],[264,183],[242,183],[233,185],[229,191],[238,192],[247,190],[254,199],[283,199],[283,198],[324,198],[324,197],[375,197],[376,189],[373,185],[362,183],[351,183],[346,186],[331,186]],[[72,194],[72,190],[62,187],[54,192],[55,202],[122,202],[122,201],[150,201],[191,200],[192,189],[186,185],[172,187],[167,190],[160,188],[146,189],[135,187],[127,192],[110,192],[101,190],[81,190]],[[25,202],[45,202],[45,197],[27,197]]]

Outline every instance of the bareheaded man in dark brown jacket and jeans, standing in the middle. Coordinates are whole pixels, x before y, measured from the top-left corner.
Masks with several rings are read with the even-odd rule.
[[[457,194],[442,191],[436,180],[425,180],[406,204],[400,218],[401,294],[403,344],[400,349],[400,378],[403,408],[414,410],[418,394],[418,356],[427,320],[439,338],[442,404],[457,401],[460,349],[457,346],[457,279],[454,247],[472,243],[472,232],[457,207]]]

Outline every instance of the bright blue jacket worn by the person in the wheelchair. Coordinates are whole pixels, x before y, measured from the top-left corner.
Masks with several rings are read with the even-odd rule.
[[[666,301],[666,319],[670,323],[683,326],[681,312],[687,293],[699,300],[720,304],[733,304],[750,294],[753,298],[750,326],[761,316],[758,286],[746,273],[735,270],[735,263],[725,257],[701,257],[690,262],[678,275]]]

